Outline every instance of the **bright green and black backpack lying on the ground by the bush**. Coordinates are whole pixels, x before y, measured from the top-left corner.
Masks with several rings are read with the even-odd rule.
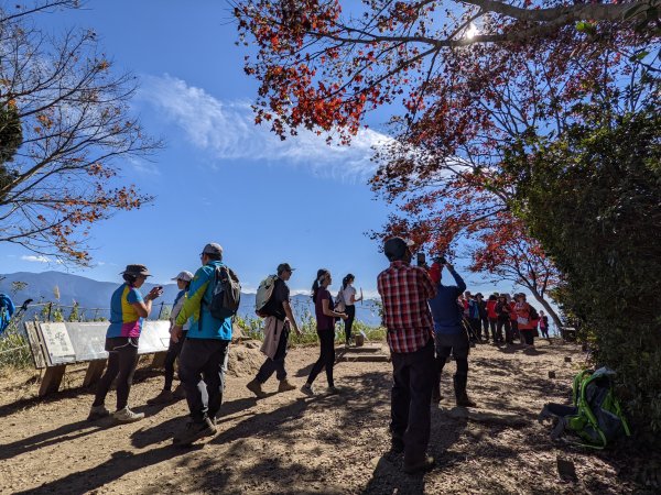
[[[574,377],[572,386],[573,406],[546,404],[539,420],[557,421],[551,438],[557,440],[564,431],[581,437],[585,447],[603,449],[631,431],[613,389],[615,372],[600,367],[585,370]]]

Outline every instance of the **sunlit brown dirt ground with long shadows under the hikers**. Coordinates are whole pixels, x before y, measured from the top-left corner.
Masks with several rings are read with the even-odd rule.
[[[3,376],[0,493],[642,493],[626,460],[554,444],[535,420],[545,402],[568,397],[583,360],[575,346],[542,341],[532,353],[478,345],[469,393],[479,407],[468,417],[449,399],[454,363],[447,364],[446,397],[432,408],[430,453],[438,464],[414,476],[402,473],[401,454],[389,453],[390,363],[338,363],[344,392],[337,396],[275,394],[271,380],[271,394],[257,400],[246,383],[261,355],[246,345],[230,352],[218,435],[189,449],[172,446],[185,402],[144,405],[162,386],[158,371],[141,367],[131,391],[130,404],[147,418],[121,426],[109,418],[86,421],[91,392],[79,386],[82,369],[67,373],[66,389],[47,399],[34,397],[39,375]],[[290,351],[293,382],[304,383],[316,354],[316,348]],[[323,373],[317,384],[325,387]],[[107,404],[113,400],[111,393]],[[573,462],[575,476],[561,477],[557,459]]]

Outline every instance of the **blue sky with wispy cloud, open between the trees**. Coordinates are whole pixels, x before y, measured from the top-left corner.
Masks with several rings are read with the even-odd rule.
[[[370,147],[388,139],[388,110],[369,116],[370,130],[350,147],[329,147],[325,136],[305,132],[281,142],[254,127],[257,84],[243,74],[228,9],[209,0],[90,0],[39,18],[53,33],[94,30],[115,69],[138,76],[133,111],[166,144],[150,162],[119,164],[127,183],[155,196],[153,205],[95,226],[95,266],[69,271],[115,280],[126,264],[143,263],[155,282],[166,282],[195,271],[202,248],[215,241],[248,290],[289,262],[299,268],[294,290],[307,290],[326,267],[334,287],[350,272],[373,295],[387,261],[365,233],[384,223],[388,207],[366,183]],[[2,253],[0,273],[64,270],[18,246],[3,245]],[[496,288],[467,278],[475,290]]]

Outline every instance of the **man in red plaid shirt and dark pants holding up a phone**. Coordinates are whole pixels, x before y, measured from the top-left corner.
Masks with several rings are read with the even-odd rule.
[[[404,452],[404,471],[427,471],[434,377],[433,321],[429,300],[436,288],[426,270],[411,265],[413,243],[388,239],[383,253],[390,266],[377,277],[383,301],[383,326],[392,358],[390,433],[392,451]]]

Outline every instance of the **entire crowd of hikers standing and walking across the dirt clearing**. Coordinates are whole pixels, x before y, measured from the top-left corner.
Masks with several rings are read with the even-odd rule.
[[[441,373],[452,355],[456,362],[453,377],[458,406],[474,407],[466,392],[468,354],[472,341],[511,344],[518,338],[525,346],[534,344],[537,326],[548,337],[548,318],[538,315],[523,294],[513,298],[494,294],[487,300],[472,295],[466,284],[443,256],[427,266],[420,257],[411,263],[415,246],[402,238],[384,242],[383,252],[390,265],[377,278],[382,299],[383,326],[391,351],[393,383],[391,391],[391,448],[403,452],[404,471],[425,471],[434,464],[426,455],[430,438],[430,406],[441,396]],[[223,248],[206,244],[199,255],[202,266],[195,274],[183,271],[173,279],[180,289],[171,314],[171,341],[165,359],[165,382],[149,404],[166,404],[185,398],[189,418],[174,436],[174,443],[189,446],[216,433],[217,417],[223,405],[225,374],[232,338],[231,282],[238,278],[223,263]],[[442,272],[447,270],[455,285],[444,285]],[[266,360],[257,375],[247,384],[258,398],[264,397],[263,384],[275,374],[278,392],[296,388],[285,366],[291,331],[301,334],[290,304],[288,280],[294,268],[281,263],[277,274],[267,277],[258,289],[256,312],[263,318],[264,340],[261,346]],[[152,288],[142,296],[140,287],[150,276],[144,265],[128,265],[122,272],[123,284],[115,290],[110,306],[110,324],[106,334],[108,366],[99,381],[88,419],[110,416],[106,395],[117,382],[117,409],[113,418],[131,422],[144,417],[129,408],[129,393],[138,364],[138,344],[143,319],[152,301],[163,294],[163,287]],[[335,363],[335,324],[344,321],[346,344],[350,343],[357,297],[355,277],[346,275],[337,297],[330,295],[333,282],[328,270],[317,271],[312,286],[319,356],[301,392],[315,395],[317,375],[325,370],[326,394],[338,394],[333,377]],[[225,292],[224,292],[225,290]],[[239,287],[240,290],[240,287]],[[218,300],[220,302],[218,302]],[[229,306],[228,306],[229,305]],[[174,364],[178,360],[181,384],[173,392]]]

